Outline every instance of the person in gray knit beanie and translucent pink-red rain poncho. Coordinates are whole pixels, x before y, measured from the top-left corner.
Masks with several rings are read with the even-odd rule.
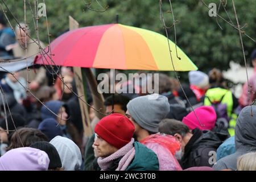
[[[156,153],[160,171],[182,170],[175,158],[180,143],[172,136],[158,134],[159,123],[170,112],[166,96],[150,94],[134,98],[127,104],[126,116],[135,126],[137,140]]]

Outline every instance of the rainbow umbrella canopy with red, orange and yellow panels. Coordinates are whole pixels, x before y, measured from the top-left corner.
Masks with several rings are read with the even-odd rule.
[[[197,67],[179,47],[169,40],[176,71]],[[167,38],[153,31],[105,24],[68,31],[51,43],[52,60],[56,65],[84,68],[139,69],[174,71]],[[47,60],[46,60],[47,59]],[[36,64],[53,64],[46,56],[38,56]]]

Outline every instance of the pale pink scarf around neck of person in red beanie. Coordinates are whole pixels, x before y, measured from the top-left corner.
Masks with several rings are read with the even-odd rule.
[[[132,138],[129,143],[120,148],[118,151],[114,152],[114,154],[106,158],[98,158],[97,162],[101,170],[104,171],[108,169],[108,167],[113,163],[115,159],[122,157],[115,171],[125,171],[125,169],[129,166],[135,156],[135,148],[133,146],[133,143],[134,139]]]

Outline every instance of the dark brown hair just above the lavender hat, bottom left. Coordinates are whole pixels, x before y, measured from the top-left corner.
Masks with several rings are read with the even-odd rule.
[[[10,146],[7,150],[19,147],[30,147],[35,142],[48,142],[48,138],[42,131],[28,127],[22,127],[15,131],[11,137]],[[23,145],[22,145],[23,144]]]

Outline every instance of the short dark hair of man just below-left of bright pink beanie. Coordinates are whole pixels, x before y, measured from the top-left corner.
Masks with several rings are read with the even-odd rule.
[[[176,133],[184,137],[189,133],[189,128],[176,119],[163,119],[159,124],[159,132],[174,136]]]

